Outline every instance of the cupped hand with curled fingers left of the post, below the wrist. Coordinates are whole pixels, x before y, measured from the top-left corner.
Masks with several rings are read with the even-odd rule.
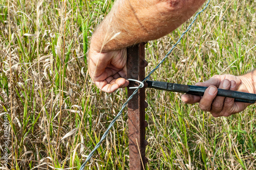
[[[93,56],[93,57],[90,57]],[[96,86],[102,91],[114,92],[118,88],[129,85],[126,80],[126,48],[100,53],[93,50],[89,52],[89,73]]]

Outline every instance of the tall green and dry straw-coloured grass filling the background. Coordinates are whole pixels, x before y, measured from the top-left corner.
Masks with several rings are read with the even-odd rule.
[[[0,0],[1,157],[7,112],[8,168],[77,169],[127,99],[126,89],[101,92],[87,70],[90,37],[113,1],[9,2]],[[254,1],[212,0],[151,79],[194,84],[252,70],[255,12]],[[146,44],[147,74],[190,22]],[[146,98],[147,169],[256,169],[255,106],[214,118],[180,94],[147,89]],[[86,169],[129,168],[126,111]]]

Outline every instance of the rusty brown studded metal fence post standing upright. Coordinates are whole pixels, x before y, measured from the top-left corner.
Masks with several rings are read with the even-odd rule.
[[[127,78],[143,81],[145,77],[144,44],[140,43],[127,48]],[[130,81],[128,95],[132,95],[135,89],[129,87],[139,86],[137,82]],[[140,88],[128,103],[128,129],[129,129],[129,155],[130,169],[143,170],[147,158],[145,157],[145,87]],[[137,144],[138,143],[138,144]]]

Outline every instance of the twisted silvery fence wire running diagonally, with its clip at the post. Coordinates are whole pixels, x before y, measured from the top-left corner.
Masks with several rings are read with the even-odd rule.
[[[159,68],[159,66],[165,61],[165,59],[169,56],[170,53],[173,52],[174,48],[177,46],[177,44],[181,41],[182,37],[188,32],[188,30],[191,28],[191,26],[194,24],[194,22],[197,19],[197,16],[202,13],[209,5],[210,0],[208,0],[207,4],[205,5],[205,7],[196,14],[195,18],[193,19],[193,21],[190,23],[190,25],[188,26],[188,28],[186,29],[185,32],[183,32],[179,38],[179,40],[173,45],[173,47],[170,49],[170,51],[165,55],[165,57],[160,61],[160,63],[150,72],[150,74],[148,74],[148,76],[146,76],[146,78],[142,81],[139,82],[140,85],[138,87],[135,87],[136,90],[133,92],[133,94],[127,99],[127,101],[122,105],[121,110],[118,112],[118,114],[116,115],[116,117],[112,120],[112,122],[109,125],[109,128],[106,129],[105,133],[102,135],[100,141],[96,144],[95,148],[92,150],[92,152],[88,155],[86,161],[81,165],[79,170],[83,170],[84,167],[86,166],[86,163],[91,159],[91,157],[93,156],[94,152],[99,148],[100,144],[102,143],[102,141],[106,138],[106,135],[109,133],[109,130],[112,128],[112,126],[115,124],[116,120],[118,119],[118,117],[122,114],[123,109],[125,108],[125,106],[128,104],[128,102],[133,98],[133,96],[138,92],[139,88],[142,88],[144,85],[144,81],[148,80],[150,78],[150,76],[153,74],[153,72],[155,72],[156,69]],[[134,81],[134,80],[132,80]],[[137,80],[136,80],[137,81]],[[138,82],[138,81],[137,81]]]

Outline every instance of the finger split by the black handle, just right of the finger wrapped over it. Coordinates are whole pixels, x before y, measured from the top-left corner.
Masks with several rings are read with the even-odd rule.
[[[223,80],[221,83],[220,83],[220,86],[219,88],[220,89],[226,89],[228,90],[230,88],[230,81],[225,79]],[[216,96],[216,98],[214,99],[214,101],[212,101],[212,104],[211,104],[211,114],[215,117],[219,117],[220,115],[220,112],[222,111],[223,109],[223,104],[224,104],[224,100],[225,100],[225,97],[222,97],[222,96]],[[215,115],[214,115],[215,114]]]

